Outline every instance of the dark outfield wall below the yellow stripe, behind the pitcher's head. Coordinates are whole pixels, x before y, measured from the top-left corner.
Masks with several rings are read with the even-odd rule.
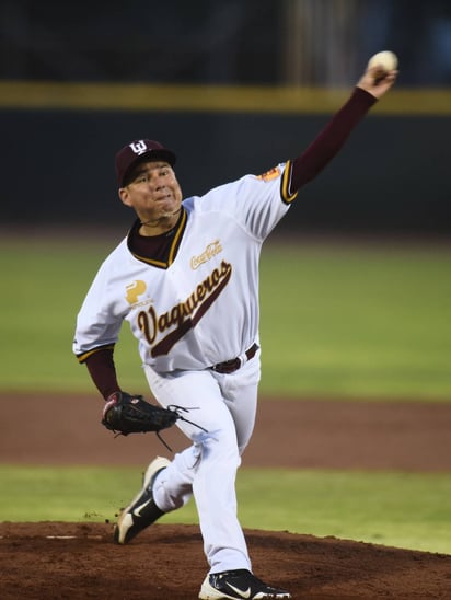
[[[128,141],[172,148],[187,196],[296,157],[328,118],[3,109],[2,222],[128,227],[114,178]],[[451,233],[450,140],[451,116],[367,117],[281,230]]]

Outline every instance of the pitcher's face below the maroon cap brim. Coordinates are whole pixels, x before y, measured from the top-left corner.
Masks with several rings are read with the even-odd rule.
[[[182,204],[182,191],[169,163],[149,161],[138,165],[130,183],[119,189],[126,206],[135,209],[141,222],[154,223],[157,229],[171,229]]]

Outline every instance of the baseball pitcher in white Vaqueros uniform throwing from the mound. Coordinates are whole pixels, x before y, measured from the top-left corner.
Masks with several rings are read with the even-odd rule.
[[[194,496],[209,565],[200,599],[291,598],[254,575],[236,517],[235,475],[254,428],[261,377],[259,254],[300,189],[396,74],[381,78],[378,66],[368,68],[299,157],[204,196],[183,199],[176,157],[158,141],[135,140],[116,154],[118,194],[136,221],[88,291],[73,351],[106,401],[106,427],[127,435],[176,424],[186,436],[187,448],[173,460],[149,464],[114,541],[129,543]],[[158,406],[117,380],[114,348],[124,321]]]

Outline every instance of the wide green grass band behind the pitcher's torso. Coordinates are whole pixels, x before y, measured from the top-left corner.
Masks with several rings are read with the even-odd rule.
[[[0,390],[94,392],[71,354],[76,315],[120,235],[0,241]],[[262,395],[451,399],[451,246],[280,244],[262,256]],[[125,389],[146,392],[128,325]]]

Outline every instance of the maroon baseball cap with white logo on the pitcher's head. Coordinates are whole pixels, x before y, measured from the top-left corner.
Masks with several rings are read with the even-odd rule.
[[[119,187],[124,187],[134,166],[143,160],[162,160],[174,166],[176,157],[171,150],[152,139],[138,139],[124,146],[116,154],[116,176]]]

